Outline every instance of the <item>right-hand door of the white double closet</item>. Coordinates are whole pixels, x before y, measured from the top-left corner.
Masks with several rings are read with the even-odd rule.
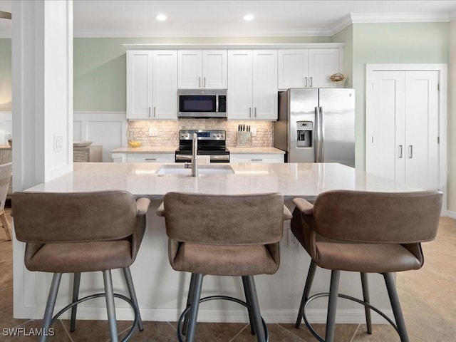
[[[432,190],[439,187],[438,71],[405,72],[405,180]]]

